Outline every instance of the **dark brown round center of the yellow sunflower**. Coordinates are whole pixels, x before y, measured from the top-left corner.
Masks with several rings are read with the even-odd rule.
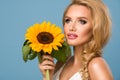
[[[42,44],[49,44],[53,42],[53,35],[48,32],[41,32],[37,35],[37,40]]]

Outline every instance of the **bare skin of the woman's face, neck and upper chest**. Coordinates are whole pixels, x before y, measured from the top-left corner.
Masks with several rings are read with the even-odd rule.
[[[69,45],[74,46],[74,56],[66,63],[60,80],[68,80],[80,70],[83,45],[92,37],[92,18],[88,8],[72,5],[65,16],[64,32]]]

